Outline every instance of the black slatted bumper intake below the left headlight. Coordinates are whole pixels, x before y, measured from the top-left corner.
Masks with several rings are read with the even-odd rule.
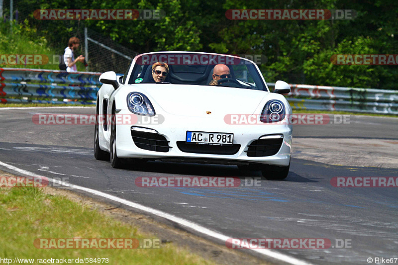
[[[155,152],[169,152],[169,142],[162,135],[157,133],[131,131],[134,144],[141,149]]]

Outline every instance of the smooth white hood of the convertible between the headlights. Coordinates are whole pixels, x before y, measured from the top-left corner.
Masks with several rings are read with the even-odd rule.
[[[226,114],[253,114],[267,91],[195,85],[140,84],[131,85],[164,111],[184,116],[205,116],[210,111],[214,116]],[[138,89],[139,88],[139,89]]]

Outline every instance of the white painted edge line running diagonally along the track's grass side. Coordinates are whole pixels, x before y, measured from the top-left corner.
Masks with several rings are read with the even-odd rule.
[[[19,173],[21,173],[23,175],[26,175],[26,176],[42,177],[42,176],[36,175],[36,174],[34,174],[32,172],[29,172],[29,171],[26,171],[26,170],[22,170],[22,169],[18,169],[18,168],[14,167],[14,166],[5,164],[5,163],[3,163],[1,161],[0,161],[0,166],[3,166],[5,168],[13,170],[15,172],[19,172]],[[200,225],[198,225],[196,223],[193,223],[191,221],[188,221],[186,219],[183,219],[183,218],[174,216],[172,214],[169,214],[169,213],[166,213],[166,212],[162,212],[162,211],[159,211],[159,210],[156,210],[156,209],[153,209],[153,208],[150,208],[150,207],[147,207],[147,206],[144,206],[144,205],[132,202],[132,201],[128,201],[128,200],[125,200],[125,199],[122,199],[122,198],[119,198],[119,197],[116,197],[116,196],[113,196],[113,195],[109,195],[107,193],[104,193],[104,192],[101,192],[101,191],[98,191],[98,190],[95,190],[95,189],[86,188],[86,187],[82,187],[82,186],[66,183],[66,182],[63,182],[63,181],[60,181],[60,180],[56,180],[56,179],[52,179],[52,178],[49,178],[49,177],[48,177],[48,180],[53,182],[53,183],[55,183],[55,184],[71,187],[72,189],[76,189],[76,190],[82,190],[82,191],[85,191],[87,193],[91,193],[91,194],[94,194],[94,195],[97,195],[97,196],[100,196],[100,197],[104,197],[104,198],[107,198],[109,200],[112,200],[112,201],[115,201],[115,202],[122,203],[124,205],[130,206],[130,207],[133,207],[135,209],[138,209],[138,210],[141,210],[141,211],[145,211],[145,212],[153,214],[153,215],[157,215],[159,217],[168,219],[168,220],[170,220],[172,222],[178,223],[178,224],[183,225],[185,227],[191,228],[191,229],[193,229],[193,230],[195,230],[195,231],[197,231],[197,232],[199,232],[201,234],[204,234],[206,236],[210,236],[212,238],[218,239],[218,240],[220,240],[220,241],[222,241],[224,243],[229,238],[232,238],[232,237],[228,237],[228,236],[225,236],[223,234],[220,234],[220,233],[218,233],[216,231],[210,230],[208,228],[205,228],[203,226],[200,226]],[[254,251],[254,252],[257,252],[259,254],[271,257],[273,259],[281,260],[281,261],[289,263],[289,264],[310,265],[310,263],[307,263],[305,261],[301,261],[301,260],[298,260],[296,258],[292,258],[292,257],[287,256],[285,254],[281,254],[281,253],[278,253],[278,252],[275,252],[275,251],[271,251],[271,250],[268,250],[268,249],[251,249],[251,251]]]

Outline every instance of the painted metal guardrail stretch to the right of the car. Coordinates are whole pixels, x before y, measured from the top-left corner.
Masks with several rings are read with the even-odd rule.
[[[275,87],[275,83],[267,85]],[[285,96],[293,109],[398,114],[398,90],[296,84],[290,88]]]

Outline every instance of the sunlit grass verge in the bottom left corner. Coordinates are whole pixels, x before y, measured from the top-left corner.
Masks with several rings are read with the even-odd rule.
[[[14,259],[108,258],[108,264],[212,264],[173,244],[157,249],[37,249],[37,238],[153,239],[137,228],[40,188],[0,188],[0,257]]]

